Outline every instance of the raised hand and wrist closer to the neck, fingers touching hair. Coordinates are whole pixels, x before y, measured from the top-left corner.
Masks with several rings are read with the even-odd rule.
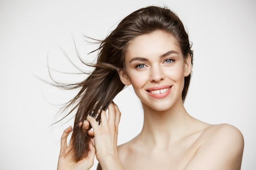
[[[121,113],[113,102],[108,107],[108,117],[102,110],[101,124],[88,116],[94,132],[94,145],[96,148],[96,158],[100,163],[97,169],[102,170],[124,170],[117,157],[117,134]]]

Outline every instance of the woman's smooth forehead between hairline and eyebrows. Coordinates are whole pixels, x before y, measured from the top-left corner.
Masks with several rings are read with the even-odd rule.
[[[180,46],[174,36],[165,31],[154,31],[139,35],[131,40],[128,44],[126,57],[161,55],[171,50],[181,54]]]

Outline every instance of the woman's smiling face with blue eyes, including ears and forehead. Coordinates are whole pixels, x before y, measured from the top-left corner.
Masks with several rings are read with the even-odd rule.
[[[184,60],[179,44],[170,33],[154,31],[129,42],[121,81],[132,84],[142,104],[168,110],[182,103],[184,77],[191,72],[190,57]]]

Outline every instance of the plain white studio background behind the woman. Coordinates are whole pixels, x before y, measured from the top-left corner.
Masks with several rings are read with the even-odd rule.
[[[163,4],[179,15],[193,42],[195,60],[187,111],[207,123],[228,123],[240,129],[245,138],[242,170],[256,169],[255,1],[1,0],[1,170],[56,169],[61,133],[72,121],[51,126],[59,109],[52,104],[66,102],[75,92],[60,91],[35,78],[49,80],[47,56],[52,68],[75,72],[59,47],[83,67],[72,37],[85,58],[96,46],[86,45],[83,35],[103,39],[132,11]],[[66,82],[83,78],[52,74]],[[130,87],[114,101],[122,113],[121,144],[141,130],[143,114]]]

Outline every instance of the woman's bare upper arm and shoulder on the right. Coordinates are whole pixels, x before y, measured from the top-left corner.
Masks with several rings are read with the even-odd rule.
[[[231,125],[222,125],[207,137],[184,170],[240,170],[244,139]]]

